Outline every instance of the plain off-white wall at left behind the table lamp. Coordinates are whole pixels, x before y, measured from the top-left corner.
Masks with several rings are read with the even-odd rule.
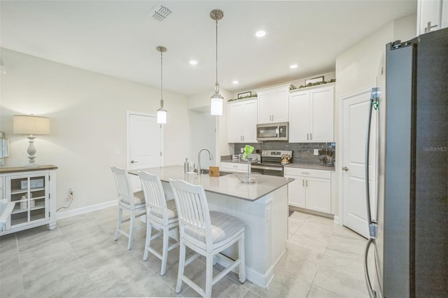
[[[13,115],[50,118],[50,135],[35,140],[38,164],[55,164],[57,208],[83,208],[116,199],[110,166],[126,167],[126,112],[154,113],[160,88],[50,62],[1,48],[0,130],[10,140],[3,167],[27,164],[28,141],[13,134]],[[186,97],[164,91],[165,164],[182,164],[179,148],[189,142]],[[62,209],[66,211],[66,209]],[[61,211],[61,212],[62,212]]]

